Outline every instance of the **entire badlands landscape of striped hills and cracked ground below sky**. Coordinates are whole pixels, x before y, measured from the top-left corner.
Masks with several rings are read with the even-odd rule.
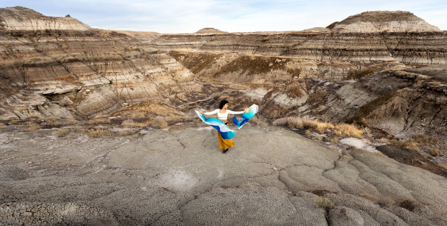
[[[1,225],[447,225],[447,32],[410,12],[160,34],[17,6],[0,49]],[[260,107],[227,153],[194,113],[222,99]]]

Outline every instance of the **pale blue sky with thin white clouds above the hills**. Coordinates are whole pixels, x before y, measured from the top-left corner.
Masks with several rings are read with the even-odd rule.
[[[70,16],[99,29],[194,33],[297,31],[365,11],[409,11],[447,30],[447,0],[0,0],[45,16]]]

